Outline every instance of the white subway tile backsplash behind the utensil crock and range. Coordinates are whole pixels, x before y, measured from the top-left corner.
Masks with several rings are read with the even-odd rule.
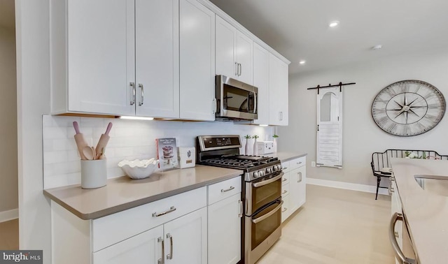
[[[89,145],[97,146],[99,137],[113,123],[106,147],[109,178],[123,176],[118,162],[123,159],[150,159],[157,156],[156,138],[176,138],[177,145],[196,145],[197,135],[237,134],[272,136],[272,127],[246,126],[231,122],[166,122],[92,117],[43,115],[43,177],[44,188],[80,183],[80,156],[73,138],[73,121]]]

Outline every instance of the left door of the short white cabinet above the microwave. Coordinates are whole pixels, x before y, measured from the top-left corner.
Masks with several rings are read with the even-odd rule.
[[[216,75],[238,78],[234,47],[237,29],[216,15]]]

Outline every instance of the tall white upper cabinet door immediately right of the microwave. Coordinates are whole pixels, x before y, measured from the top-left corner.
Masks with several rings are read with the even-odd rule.
[[[258,87],[258,119],[253,124],[269,124],[269,52],[253,43],[253,86]]]

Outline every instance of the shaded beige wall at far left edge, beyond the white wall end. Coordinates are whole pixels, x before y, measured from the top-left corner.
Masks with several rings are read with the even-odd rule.
[[[15,31],[0,27],[0,221],[18,208]]]

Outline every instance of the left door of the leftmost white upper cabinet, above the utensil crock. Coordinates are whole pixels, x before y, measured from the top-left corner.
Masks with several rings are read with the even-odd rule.
[[[69,0],[66,10],[69,111],[134,115],[134,0]]]

